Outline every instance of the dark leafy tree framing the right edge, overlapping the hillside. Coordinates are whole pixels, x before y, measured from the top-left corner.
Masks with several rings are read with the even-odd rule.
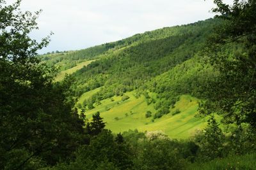
[[[234,1],[232,6],[214,3],[217,7],[212,11],[221,14],[217,17],[224,24],[209,39],[207,54],[220,76],[205,86],[209,97],[200,104],[200,113],[215,111],[226,124],[256,127],[256,1]]]

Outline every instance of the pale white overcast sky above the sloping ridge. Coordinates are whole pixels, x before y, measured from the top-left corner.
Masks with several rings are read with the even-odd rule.
[[[7,0],[8,1],[8,0]],[[13,1],[13,0],[9,0]],[[214,16],[213,0],[23,0],[22,10],[43,12],[40,39],[54,32],[40,53],[79,50],[161,27],[188,24]],[[227,0],[232,1],[232,0]]]

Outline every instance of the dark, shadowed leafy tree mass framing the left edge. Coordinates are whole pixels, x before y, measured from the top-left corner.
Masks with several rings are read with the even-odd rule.
[[[72,80],[53,83],[53,70],[35,57],[49,43],[29,38],[40,11],[19,6],[0,1],[0,169],[53,165],[83,143]]]

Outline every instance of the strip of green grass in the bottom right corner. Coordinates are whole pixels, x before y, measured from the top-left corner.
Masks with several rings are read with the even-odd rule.
[[[186,169],[191,170],[225,170],[225,169],[256,169],[256,153],[246,155],[230,155],[225,159],[214,159],[202,164],[191,164]]]

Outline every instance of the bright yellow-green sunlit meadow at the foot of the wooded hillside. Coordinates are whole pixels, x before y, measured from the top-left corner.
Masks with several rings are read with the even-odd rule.
[[[78,103],[83,103],[85,96],[89,97],[98,90],[86,92]],[[153,104],[147,105],[144,96],[137,99],[134,97],[134,92],[127,92],[125,95],[130,97],[127,101],[122,102],[120,96],[113,97],[115,101],[105,99],[93,110],[86,111],[86,116],[91,118],[93,113],[100,111],[100,115],[107,122],[106,127],[115,133],[129,129],[138,129],[139,131],[161,130],[171,138],[188,138],[195,129],[205,126],[204,120],[194,117],[197,110],[197,99],[195,97],[180,96],[180,101],[175,104],[175,108],[171,109],[168,115],[157,118],[152,122],[152,117],[146,118],[145,113],[147,110],[151,111],[152,115],[156,113]],[[172,116],[172,112],[176,109],[181,112]]]

